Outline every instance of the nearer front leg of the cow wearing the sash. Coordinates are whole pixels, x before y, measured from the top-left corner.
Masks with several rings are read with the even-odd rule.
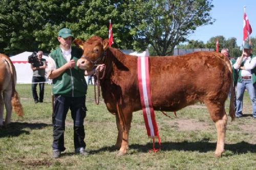
[[[127,154],[127,150],[129,149],[129,131],[131,128],[132,122],[132,112],[122,112],[123,114],[119,114],[120,125],[122,128],[122,143],[121,148],[117,153],[117,156],[123,156]]]

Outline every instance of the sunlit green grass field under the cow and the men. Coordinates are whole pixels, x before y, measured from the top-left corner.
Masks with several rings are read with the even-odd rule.
[[[152,140],[147,138],[142,111],[133,114],[129,154],[116,157],[115,116],[101,99],[94,103],[94,88],[87,95],[86,150],[90,156],[74,154],[73,123],[66,120],[65,152],[52,158],[51,86],[45,87],[44,103],[35,104],[31,85],[17,85],[25,116],[12,115],[12,124],[0,129],[0,169],[256,169],[256,120],[251,117],[248,94],[244,96],[245,117],[230,122],[226,133],[226,152],[216,158],[215,124],[203,104],[168,113],[156,112],[161,151],[149,153]],[[229,101],[226,102],[228,112]]]

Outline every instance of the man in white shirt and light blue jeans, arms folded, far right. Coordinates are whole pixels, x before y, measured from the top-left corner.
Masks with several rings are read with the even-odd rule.
[[[251,54],[251,46],[245,44],[243,46],[243,54],[237,59],[237,62],[233,65],[235,69],[238,69],[238,84],[237,84],[237,110],[236,117],[243,116],[243,97],[244,91],[247,89],[250,100],[252,103],[252,116],[256,118],[256,57]]]

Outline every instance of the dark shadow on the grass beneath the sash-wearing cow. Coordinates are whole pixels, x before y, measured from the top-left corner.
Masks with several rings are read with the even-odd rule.
[[[158,143],[156,144],[156,149],[159,148]],[[153,143],[147,143],[145,145],[143,144],[131,144],[129,145],[130,150],[137,150],[138,152],[146,153],[150,149],[153,148]],[[207,141],[197,141],[197,142],[163,142],[161,143],[161,151],[191,151],[191,152],[200,152],[200,153],[206,153],[209,151],[214,152],[216,149],[216,143],[210,143]],[[225,150],[231,151],[234,154],[245,154],[245,153],[256,153],[256,144],[251,144],[245,141],[241,141],[239,143],[233,143],[233,144],[225,144]],[[117,149],[115,148],[115,145],[112,145],[111,147],[104,147],[100,148],[99,150],[92,150],[90,151],[91,154],[97,154],[99,152],[115,152]]]

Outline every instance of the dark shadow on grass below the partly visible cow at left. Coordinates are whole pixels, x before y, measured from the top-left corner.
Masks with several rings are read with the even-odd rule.
[[[19,136],[21,134],[29,134],[29,131],[23,130],[25,128],[29,129],[41,129],[45,128],[47,126],[51,126],[50,124],[44,124],[44,123],[19,123],[19,122],[13,122],[9,124],[6,128],[2,128],[0,130],[0,138],[1,137],[13,137],[13,136]]]

